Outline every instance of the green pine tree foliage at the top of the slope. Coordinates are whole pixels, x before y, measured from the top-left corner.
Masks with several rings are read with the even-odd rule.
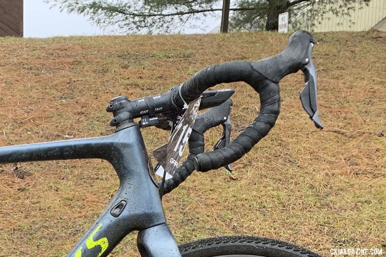
[[[311,22],[328,12],[352,22],[350,12],[371,0],[235,0],[231,2],[231,30],[277,30],[278,15],[303,11]],[[45,0],[61,11],[85,15],[102,28],[127,33],[181,32],[201,24],[208,15],[221,14],[221,0]],[[295,20],[292,22],[296,23]]]

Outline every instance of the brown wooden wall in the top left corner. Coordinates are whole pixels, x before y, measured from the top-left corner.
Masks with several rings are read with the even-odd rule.
[[[23,0],[0,0],[0,36],[23,36]]]

